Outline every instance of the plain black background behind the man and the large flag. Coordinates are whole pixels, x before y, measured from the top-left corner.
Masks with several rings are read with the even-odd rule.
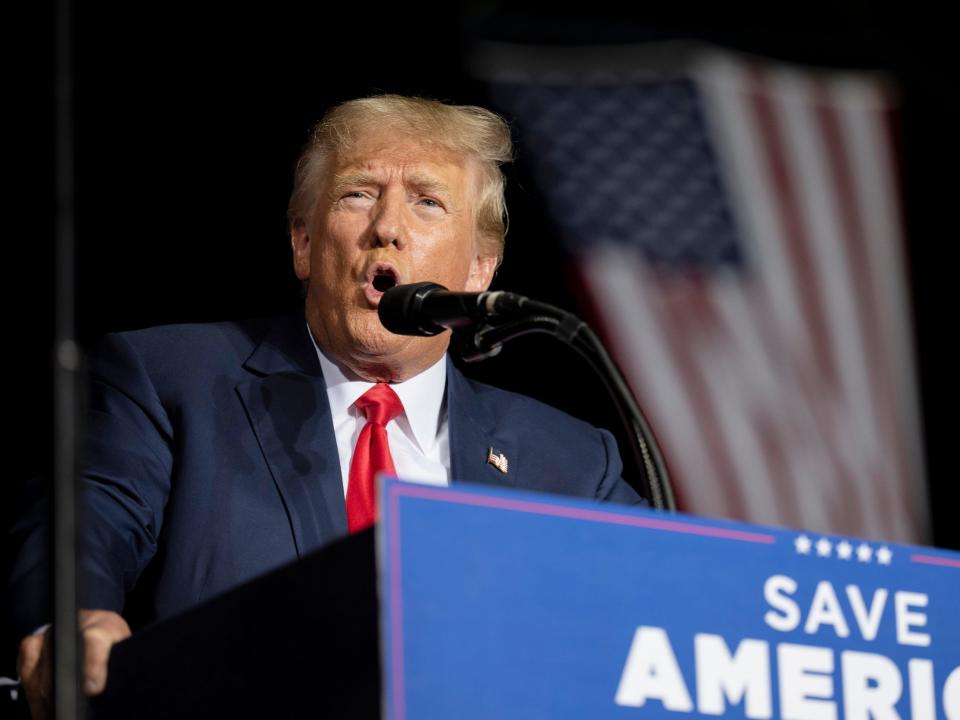
[[[267,315],[299,300],[285,207],[309,126],[371,92],[488,104],[465,69],[480,39],[536,43],[698,38],[822,66],[879,68],[904,91],[899,147],[935,543],[960,547],[953,468],[954,179],[960,112],[953,30],[919,10],[865,2],[674,3],[669,13],[517,3],[86,3],[72,24],[77,333]],[[22,478],[50,457],[53,335],[54,11],[14,18],[7,63],[7,473],[0,527]],[[32,13],[32,14],[31,14]],[[919,23],[917,25],[916,23]],[[912,29],[921,27],[922,30]],[[578,312],[550,223],[521,163],[509,171],[511,232],[495,286]],[[24,352],[24,348],[26,351]],[[475,371],[603,425],[610,409],[548,340],[522,340]],[[545,369],[547,371],[545,371]]]

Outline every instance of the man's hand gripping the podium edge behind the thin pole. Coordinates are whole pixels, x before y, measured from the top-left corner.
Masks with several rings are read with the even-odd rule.
[[[87,695],[99,695],[107,685],[110,648],[130,637],[130,626],[112,610],[81,610],[78,620],[83,638],[83,687]],[[49,628],[20,642],[17,672],[35,719],[50,715],[52,657]]]

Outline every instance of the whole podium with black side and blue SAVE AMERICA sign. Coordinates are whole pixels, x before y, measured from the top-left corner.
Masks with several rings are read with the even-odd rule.
[[[94,718],[960,720],[960,554],[388,481],[117,645]]]

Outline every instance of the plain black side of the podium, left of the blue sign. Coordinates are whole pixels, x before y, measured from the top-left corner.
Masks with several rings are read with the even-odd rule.
[[[380,717],[373,529],[115,645],[92,718]]]

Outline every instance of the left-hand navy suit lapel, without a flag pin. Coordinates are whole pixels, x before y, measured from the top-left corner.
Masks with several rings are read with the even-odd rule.
[[[298,556],[347,534],[326,386],[303,316],[274,322],[237,385],[283,499]]]

